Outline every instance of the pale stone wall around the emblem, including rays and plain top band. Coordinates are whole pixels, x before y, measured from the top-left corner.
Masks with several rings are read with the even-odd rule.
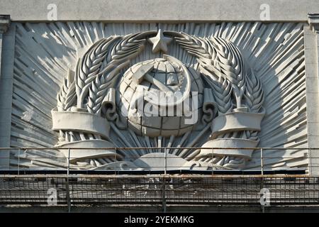
[[[74,68],[77,57],[100,38],[162,28],[202,37],[224,36],[240,48],[267,94],[268,115],[262,124],[260,147],[319,148],[318,29],[307,23],[308,13],[319,12],[318,1],[145,4],[133,0],[129,6],[128,1],[80,1],[77,5],[55,1],[59,22],[48,21],[50,3],[16,1],[15,7],[8,0],[0,3],[0,14],[9,14],[13,21],[8,32],[0,33],[1,147],[55,145],[57,133],[51,131],[50,110],[56,105],[63,77]],[[262,4],[270,7],[270,21],[255,23],[261,19]],[[150,48],[147,51],[147,57],[158,57]],[[268,60],[269,55],[274,58]],[[184,60],[195,62],[194,57]],[[276,111],[277,107],[281,109]],[[269,168],[303,167],[311,175],[319,175],[319,150],[274,150],[269,154],[275,157],[265,163]],[[43,153],[36,155],[41,157]],[[9,165],[9,156],[9,151],[1,152],[0,157],[5,158],[1,158],[0,165]],[[16,153],[10,157],[14,165]],[[259,168],[260,153],[253,157],[256,162],[250,162],[248,169]],[[29,162],[26,159],[24,163]]]

